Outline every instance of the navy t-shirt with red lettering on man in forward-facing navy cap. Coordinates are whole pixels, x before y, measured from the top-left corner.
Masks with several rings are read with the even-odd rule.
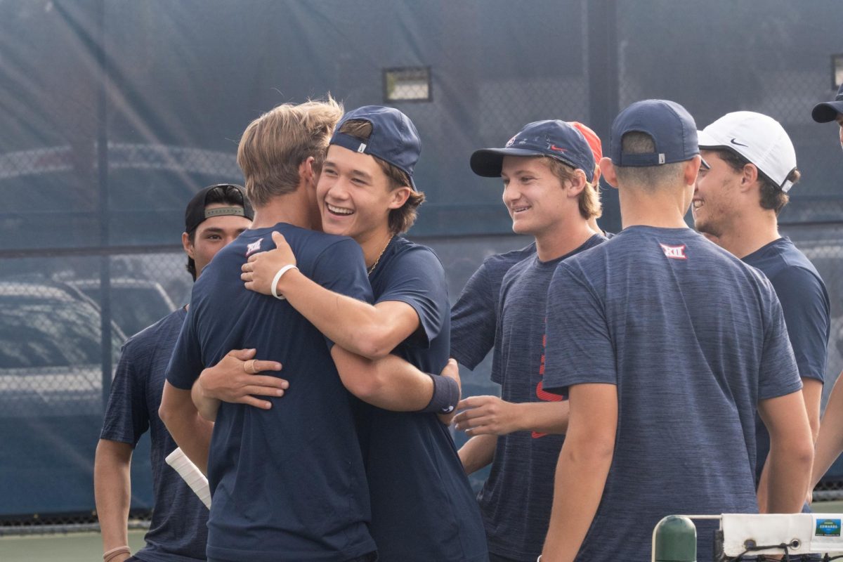
[[[545,304],[556,265],[604,242],[599,234],[556,260],[536,254],[503,277],[500,321],[492,380],[501,398],[525,403],[558,401],[542,388],[545,374]],[[533,562],[541,554],[553,505],[553,474],[564,436],[516,431],[497,438],[495,458],[478,495],[489,551],[507,559]]]

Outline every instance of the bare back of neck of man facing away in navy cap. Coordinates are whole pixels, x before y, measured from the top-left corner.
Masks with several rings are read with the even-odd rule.
[[[685,212],[690,205],[690,194],[690,190],[679,186],[652,192],[639,187],[620,187],[620,222],[624,228],[687,228]]]

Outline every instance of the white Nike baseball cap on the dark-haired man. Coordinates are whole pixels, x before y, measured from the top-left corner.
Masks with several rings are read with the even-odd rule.
[[[697,131],[701,149],[726,148],[738,153],[787,193],[787,176],[796,169],[796,151],[777,120],[754,111],[734,111]]]

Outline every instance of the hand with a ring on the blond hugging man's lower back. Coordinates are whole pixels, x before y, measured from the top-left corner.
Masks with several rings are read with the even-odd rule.
[[[236,402],[249,404],[255,408],[270,409],[271,402],[257,399],[255,395],[283,396],[290,383],[283,378],[256,374],[281,371],[281,363],[256,360],[255,353],[255,350],[228,351],[222,361],[202,371],[199,376],[202,395],[223,402]]]

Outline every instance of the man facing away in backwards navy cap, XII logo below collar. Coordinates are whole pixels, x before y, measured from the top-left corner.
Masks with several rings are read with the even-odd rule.
[[[685,224],[699,153],[681,105],[623,110],[600,167],[624,230],[550,281],[545,390],[570,413],[543,562],[645,562],[662,517],[757,512],[755,404],[770,511],[802,506],[813,447],[781,305],[760,271]],[[712,527],[699,528],[711,559]]]

